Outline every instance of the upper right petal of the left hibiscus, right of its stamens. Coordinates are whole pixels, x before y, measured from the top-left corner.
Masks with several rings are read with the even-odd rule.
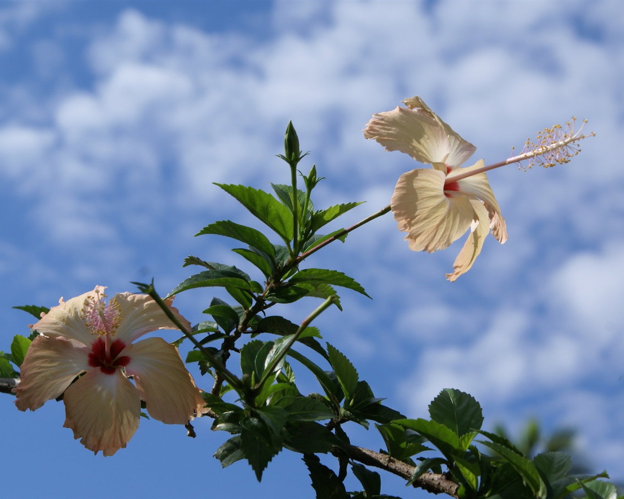
[[[121,317],[119,327],[115,332],[115,339],[128,344],[151,331],[178,329],[154,299],[147,294],[117,293],[115,300],[119,304]],[[190,322],[180,315],[177,308],[171,306],[172,302],[173,299],[165,300],[173,315],[190,331]]]

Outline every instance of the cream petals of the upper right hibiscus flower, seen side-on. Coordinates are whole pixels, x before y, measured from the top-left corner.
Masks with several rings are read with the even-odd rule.
[[[467,230],[470,235],[446,274],[454,281],[466,273],[479,255],[491,231],[500,242],[507,240],[505,219],[500,214],[487,176],[480,171],[483,160],[461,167],[476,148],[442,121],[419,97],[374,114],[364,137],[374,138],[388,151],[401,151],[431,168],[404,173],[394,188],[391,208],[399,230],[414,251],[447,248]]]

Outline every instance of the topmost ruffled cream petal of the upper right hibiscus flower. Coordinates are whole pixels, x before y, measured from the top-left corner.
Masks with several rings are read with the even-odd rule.
[[[476,148],[442,121],[419,97],[403,101],[407,108],[374,114],[364,128],[388,151],[401,151],[421,163],[459,166]]]

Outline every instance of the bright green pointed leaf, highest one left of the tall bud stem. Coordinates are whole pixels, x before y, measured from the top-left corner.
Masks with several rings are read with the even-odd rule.
[[[252,215],[273,229],[286,243],[293,239],[293,215],[286,206],[265,191],[233,185],[215,183],[238,200]]]

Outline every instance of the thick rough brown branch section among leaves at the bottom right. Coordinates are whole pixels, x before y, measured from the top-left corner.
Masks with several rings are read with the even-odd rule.
[[[374,452],[368,448],[349,445],[348,454],[351,459],[369,466],[381,468],[406,480],[409,480],[414,473],[413,466],[390,457],[388,454]],[[413,485],[433,494],[448,494],[451,497],[457,497],[457,489],[459,488],[459,485],[449,480],[446,475],[438,473],[424,473],[424,475],[421,475],[414,481]]]

